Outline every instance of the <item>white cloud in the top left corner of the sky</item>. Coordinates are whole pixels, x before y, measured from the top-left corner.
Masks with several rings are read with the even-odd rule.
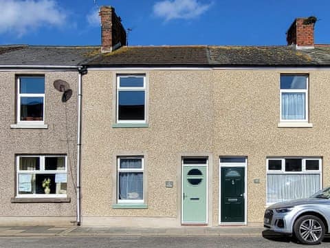
[[[21,37],[41,26],[61,26],[67,14],[54,0],[0,0],[0,33]]]

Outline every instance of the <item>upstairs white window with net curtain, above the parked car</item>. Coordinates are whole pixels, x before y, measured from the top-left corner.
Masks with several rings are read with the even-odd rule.
[[[281,122],[308,122],[308,75],[281,74]]]

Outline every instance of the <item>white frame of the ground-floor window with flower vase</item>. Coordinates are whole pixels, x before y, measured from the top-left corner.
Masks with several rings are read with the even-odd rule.
[[[20,158],[39,158],[39,170],[20,170]],[[45,170],[45,158],[65,158],[64,170]],[[19,174],[65,174],[67,176],[66,155],[19,155],[16,156],[16,198],[65,198],[67,194],[19,194]],[[54,182],[51,182],[54,183]]]

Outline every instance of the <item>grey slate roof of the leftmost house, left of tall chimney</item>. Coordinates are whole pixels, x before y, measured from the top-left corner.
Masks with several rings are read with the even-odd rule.
[[[100,47],[91,46],[0,46],[1,65],[79,65],[100,54]]]

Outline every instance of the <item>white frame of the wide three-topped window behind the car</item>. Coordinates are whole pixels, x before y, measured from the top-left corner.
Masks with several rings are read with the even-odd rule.
[[[285,159],[301,159],[301,171],[300,172],[286,172],[285,171]],[[280,160],[282,161],[281,170],[272,170],[268,169],[268,164],[270,160]],[[308,160],[318,160],[318,170],[307,170],[306,169],[306,161]],[[292,157],[292,156],[285,156],[285,157],[267,157],[266,158],[266,205],[272,205],[274,203],[267,203],[267,194],[268,194],[268,187],[267,187],[267,175],[268,174],[319,174],[320,176],[320,189],[322,189],[322,158],[320,157]]]

